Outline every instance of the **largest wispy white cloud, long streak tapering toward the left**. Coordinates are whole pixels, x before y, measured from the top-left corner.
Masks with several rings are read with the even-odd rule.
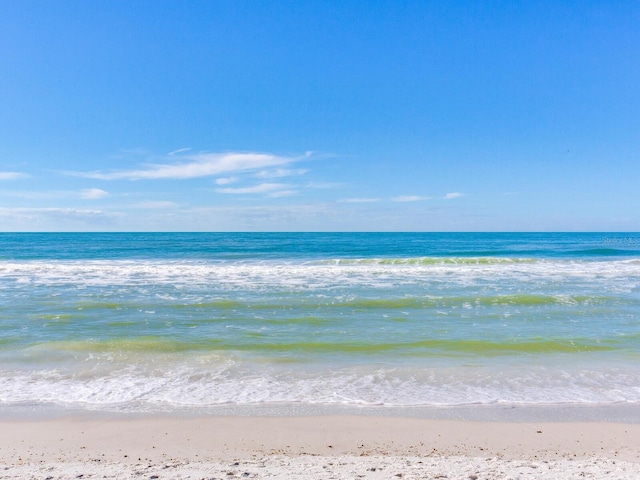
[[[179,163],[150,164],[138,170],[67,173],[98,180],[189,179],[288,165],[307,158],[308,155],[284,157],[269,153],[200,153],[172,156],[172,158],[174,157],[181,161]]]

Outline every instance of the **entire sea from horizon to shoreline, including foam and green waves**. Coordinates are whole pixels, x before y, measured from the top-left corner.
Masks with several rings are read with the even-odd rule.
[[[0,405],[636,404],[640,234],[0,234]]]

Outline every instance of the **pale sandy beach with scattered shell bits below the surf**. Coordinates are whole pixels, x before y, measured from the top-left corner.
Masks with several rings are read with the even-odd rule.
[[[640,478],[640,424],[313,417],[3,420],[0,478]]]

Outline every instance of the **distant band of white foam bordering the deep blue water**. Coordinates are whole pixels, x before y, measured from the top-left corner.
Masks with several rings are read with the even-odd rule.
[[[630,291],[640,286],[640,261],[531,260],[474,263],[362,261],[328,263],[69,261],[0,262],[0,281],[35,285],[101,286],[171,284],[218,285],[226,288],[386,288],[402,283],[446,282],[471,285],[500,280],[527,282],[593,282]],[[480,260],[480,259],[478,259]],[[522,259],[524,260],[524,259]]]

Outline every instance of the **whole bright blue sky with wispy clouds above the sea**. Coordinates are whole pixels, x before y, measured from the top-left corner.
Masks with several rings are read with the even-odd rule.
[[[0,231],[638,231],[636,1],[0,2]]]

